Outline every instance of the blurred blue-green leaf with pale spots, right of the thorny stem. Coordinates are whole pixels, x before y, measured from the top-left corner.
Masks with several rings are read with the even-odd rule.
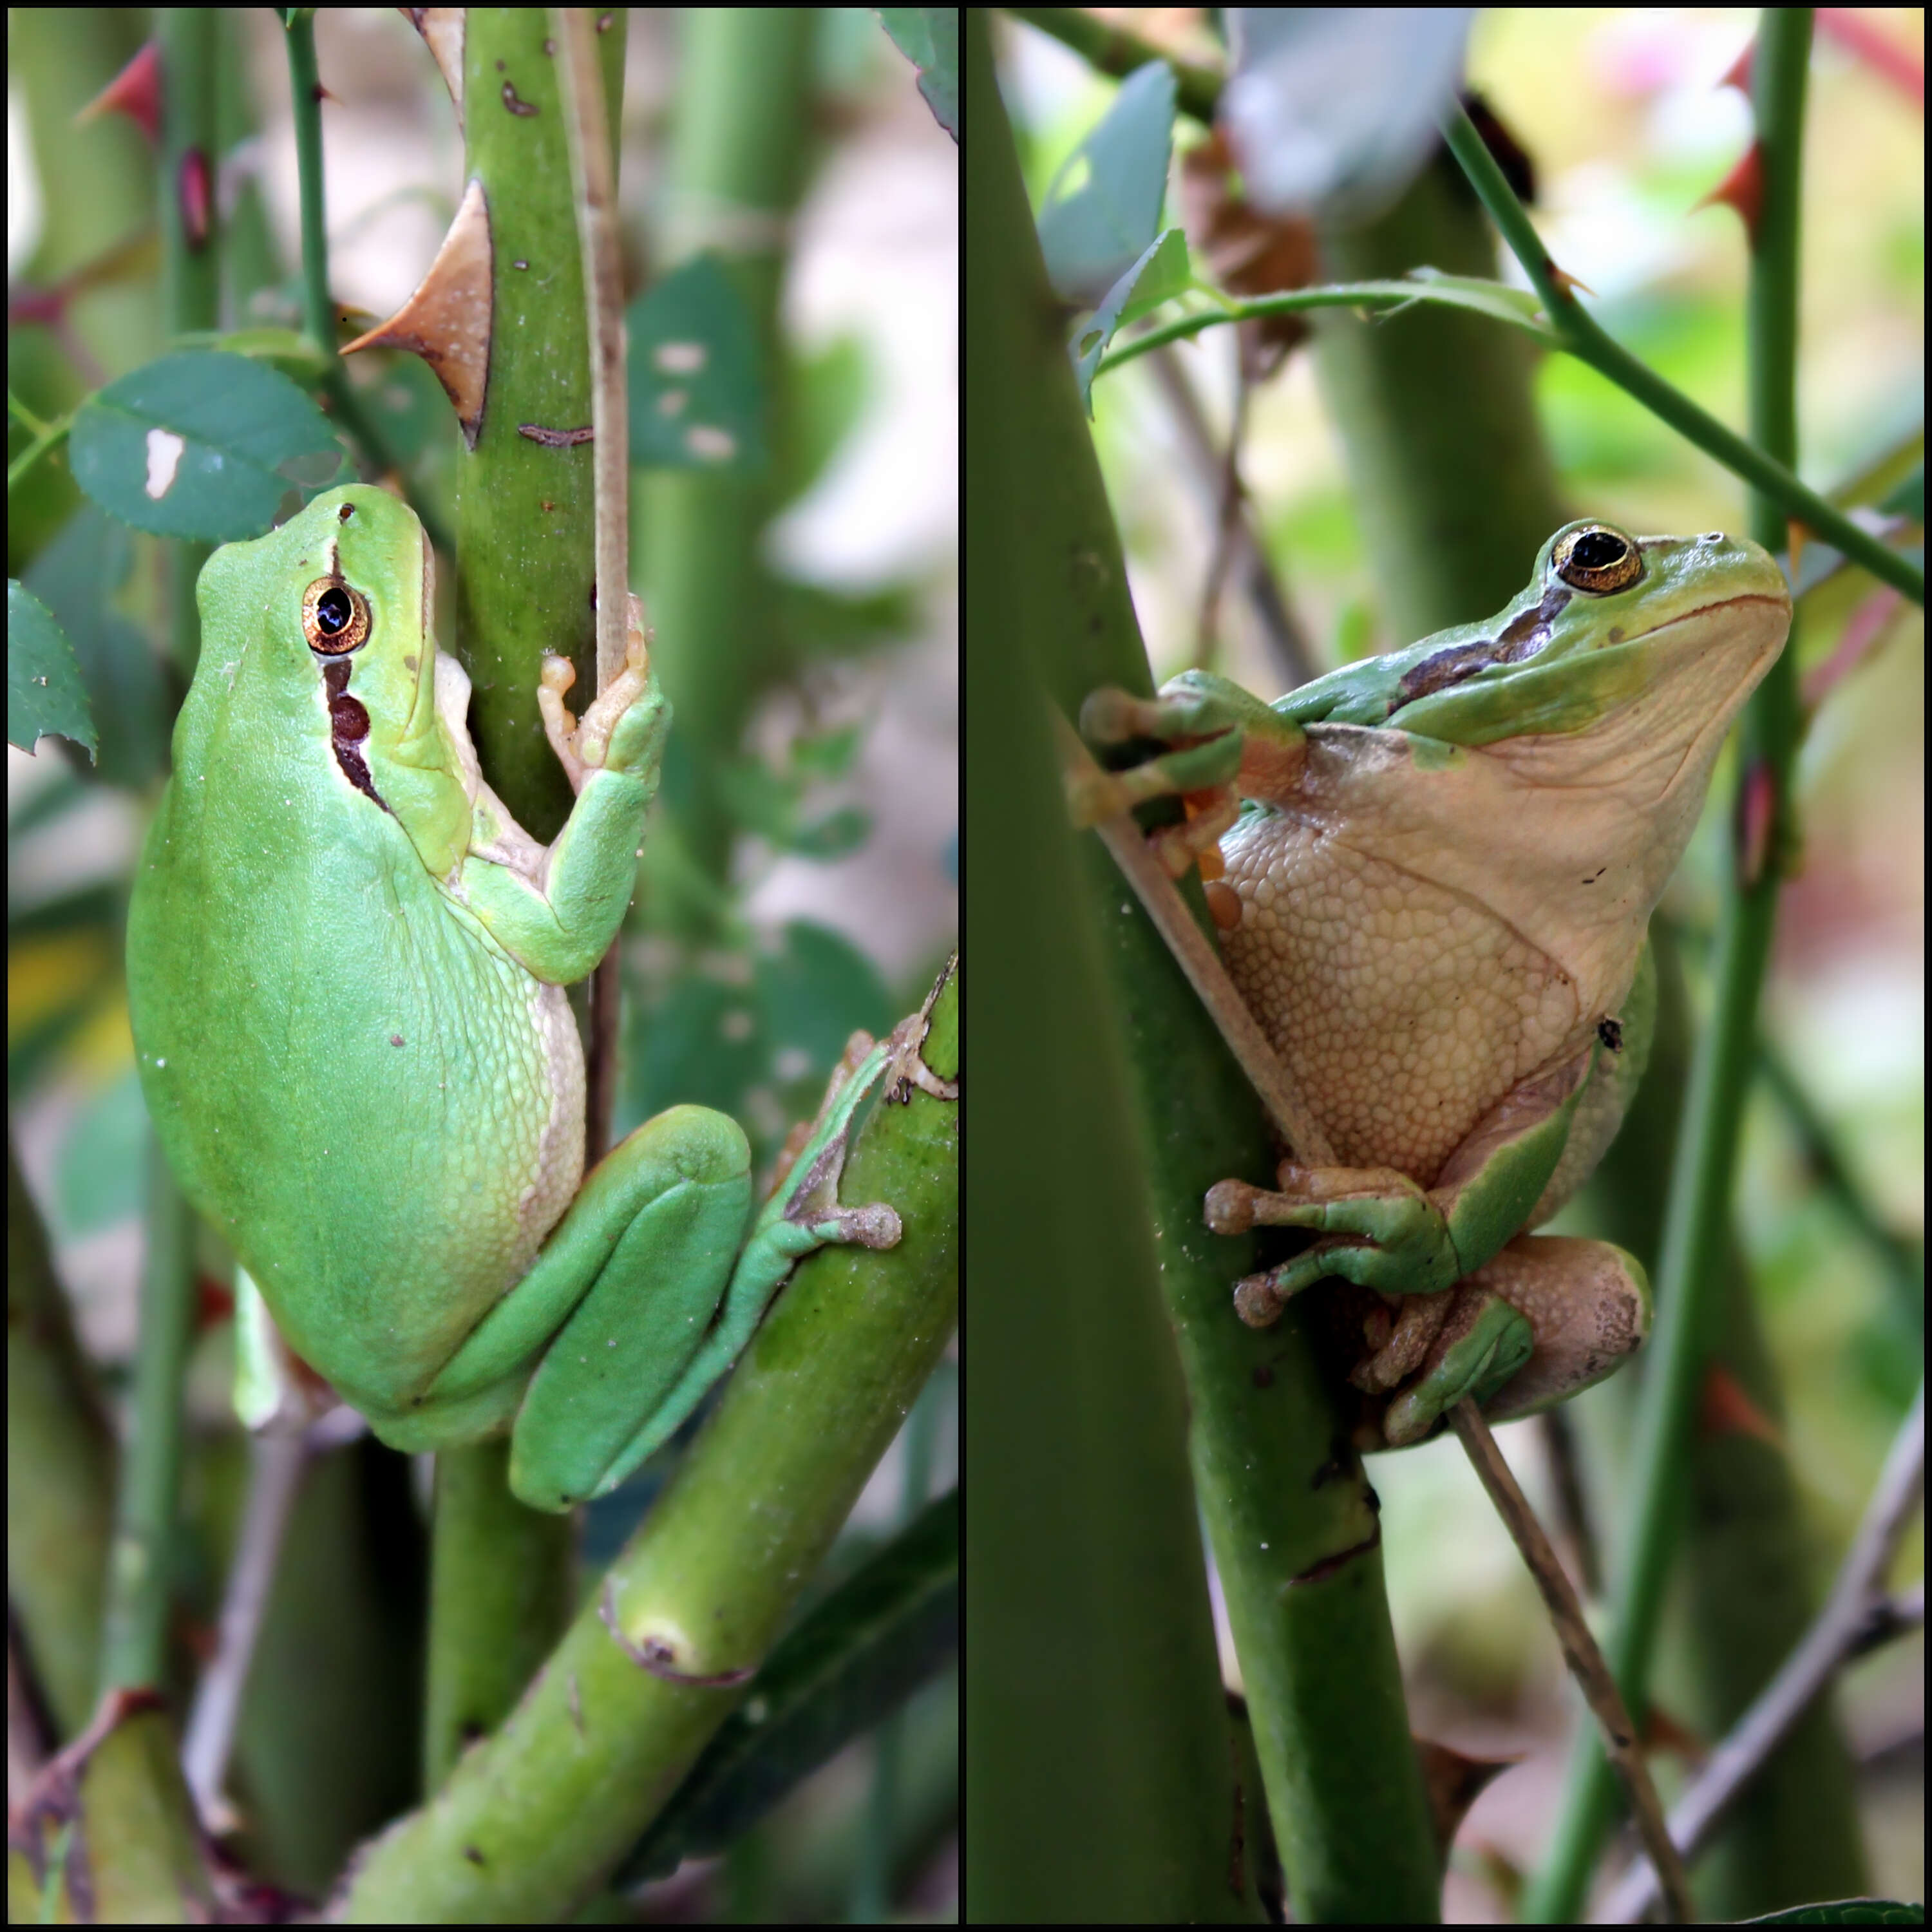
[[[753,475],[765,466],[765,377],[752,311],[715,255],[630,305],[630,460]]]

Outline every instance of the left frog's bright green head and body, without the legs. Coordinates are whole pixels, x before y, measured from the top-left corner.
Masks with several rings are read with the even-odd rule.
[[[301,599],[330,545],[371,636],[325,663]],[[176,773],[195,777],[166,788],[128,929],[141,1086],[187,1198],[298,1354],[381,1408],[518,1279],[583,1167],[564,993],[462,898],[471,794],[437,711],[429,603],[421,529],[377,489],[209,560],[174,732]],[[361,705],[371,730],[338,746],[327,682],[344,670],[338,724]],[[626,854],[647,800],[630,784]],[[278,1294],[292,1265],[303,1293]]]

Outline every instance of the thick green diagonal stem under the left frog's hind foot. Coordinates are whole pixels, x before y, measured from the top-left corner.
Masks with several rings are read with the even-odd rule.
[[[958,1078],[958,980],[922,1049]],[[736,1708],[952,1335],[958,1103],[879,1103],[848,1202],[889,1200],[896,1248],[798,1265],[724,1399],[518,1708],[367,1851],[338,1917],[568,1918]]]

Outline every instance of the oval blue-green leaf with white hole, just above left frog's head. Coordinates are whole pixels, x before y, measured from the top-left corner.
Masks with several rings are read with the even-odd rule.
[[[73,481],[156,537],[232,543],[265,531],[292,487],[342,468],[336,433],[284,375],[189,350],[97,390],[73,415]]]

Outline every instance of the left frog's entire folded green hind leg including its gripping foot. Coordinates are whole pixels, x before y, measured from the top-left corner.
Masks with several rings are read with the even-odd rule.
[[[738,1122],[709,1107],[645,1121],[585,1177],[427,1406],[460,1414],[500,1403],[535,1362],[512,1428],[510,1488],[533,1509],[612,1490],[730,1368],[800,1256],[898,1240],[891,1208],[837,1200],[852,1121],[887,1061],[875,1047],[835,1090],[750,1233],[752,1151]]]

